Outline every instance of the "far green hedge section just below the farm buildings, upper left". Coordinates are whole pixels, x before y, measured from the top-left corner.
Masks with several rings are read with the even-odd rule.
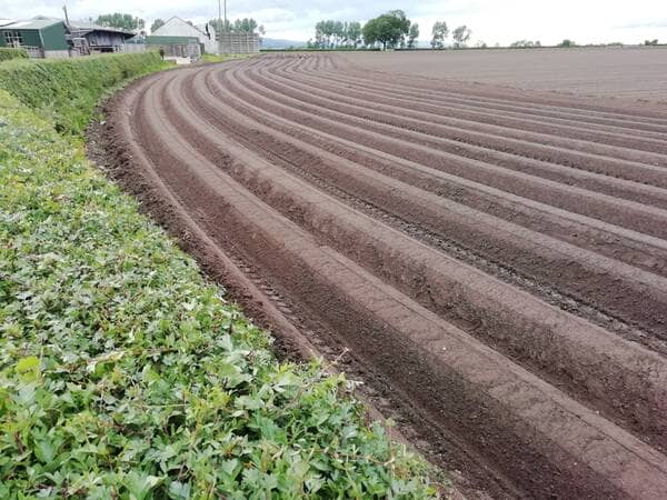
[[[8,61],[0,66],[0,89],[51,119],[58,131],[80,133],[106,89],[165,64],[155,52]]]

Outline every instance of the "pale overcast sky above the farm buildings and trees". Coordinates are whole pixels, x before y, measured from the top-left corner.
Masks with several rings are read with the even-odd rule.
[[[62,0],[0,0],[0,17],[62,17]],[[67,6],[70,19],[120,11],[146,19],[148,26],[156,18],[179,16],[199,23],[218,14],[217,0],[68,0]],[[419,39],[425,41],[436,20],[450,28],[467,24],[474,42],[488,44],[520,39],[552,44],[565,38],[577,43],[667,41],[666,0],[229,0],[227,6],[230,19],[252,17],[265,26],[268,38],[303,41],[321,19],[364,22],[390,9],[404,9],[418,22]]]

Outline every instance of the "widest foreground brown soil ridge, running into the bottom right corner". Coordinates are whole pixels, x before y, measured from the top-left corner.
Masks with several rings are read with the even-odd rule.
[[[243,194],[233,180],[221,176],[212,164],[208,164],[208,169],[205,170],[206,161],[198,158],[197,151],[189,147],[189,141],[179,134],[177,128],[169,124],[168,114],[160,112],[163,110],[156,102],[155,96],[150,106],[146,106],[146,100],[143,102],[142,114],[148,117],[138,123],[138,129],[142,130],[141,147],[149,161],[152,160],[151,163],[160,177],[168,179],[183,207],[190,211],[206,213],[208,220],[215,221],[217,227],[209,223],[209,230],[215,237],[221,233],[222,229],[235,233],[252,233],[263,243],[261,248],[280,252],[283,259],[279,263],[267,259],[261,252],[252,257],[276,273],[285,270],[300,279],[300,284],[306,290],[301,293],[303,300],[310,298],[312,302],[313,298],[320,297],[317,291],[325,286],[328,290],[327,307],[321,309],[325,314],[336,310],[357,318],[364,317],[365,321],[351,330],[360,330],[362,336],[348,336],[347,342],[377,364],[381,360],[372,358],[375,349],[367,346],[364,339],[384,341],[389,354],[400,356],[402,362],[414,370],[412,377],[404,377],[401,384],[401,379],[396,377],[400,374],[396,373],[396,366],[391,367],[385,361],[382,368],[389,376],[394,374],[397,390],[405,390],[406,396],[409,393],[412,399],[421,397],[426,408],[430,407],[431,411],[439,413],[438,421],[452,419],[460,429],[459,433],[470,433],[465,438],[467,446],[485,449],[485,453],[491,458],[496,457],[496,460],[507,457],[508,453],[517,453],[517,462],[507,463],[502,460],[506,462],[502,468],[524,479],[522,482],[528,489],[524,490],[522,494],[540,496],[554,489],[563,491],[566,487],[565,481],[570,482],[567,484],[568,491],[574,491],[577,496],[590,496],[594,491],[603,491],[610,497],[628,494],[628,491],[650,494],[663,488],[660,482],[648,478],[659,477],[656,476],[656,470],[665,468],[661,463],[664,458],[641,449],[641,444],[631,438],[628,439],[623,432],[609,428],[601,419],[596,420],[595,416],[563,398],[558,391],[541,381],[531,379],[528,373],[507,364],[495,352],[470,343],[470,339],[459,330],[429,317],[425,311],[417,316],[420,312],[418,308],[409,307],[400,296],[386,291],[382,283],[372,280],[340,257],[330,254],[320,247],[313,247],[307,233],[277,218],[275,212],[252,197]],[[149,113],[155,117],[150,117]],[[172,149],[169,149],[169,146]],[[197,161],[197,168],[189,169],[187,166],[192,164],[193,160]],[[188,191],[197,192],[199,197],[192,197]],[[201,203],[202,199],[210,197],[222,203]],[[292,237],[282,241],[283,234]],[[285,274],[282,277],[287,278]],[[350,309],[350,302],[344,299],[350,294],[356,299],[352,302],[356,304],[354,309]],[[317,306],[321,307],[316,303]],[[414,324],[400,324],[400,330],[397,330],[397,320],[406,313],[410,317],[416,316]],[[337,320],[340,321],[339,318],[340,316],[331,317],[329,320],[336,324]],[[401,338],[407,338],[408,341],[399,340]],[[428,356],[426,363],[424,352],[416,351],[410,341],[425,346],[434,353]],[[429,393],[427,387],[410,387],[410,380],[426,376],[425,364],[438,366],[438,374],[436,378],[431,376],[430,380],[440,387],[449,388],[447,401],[442,400],[441,393]],[[487,373],[485,377],[478,374],[481,366]],[[500,370],[497,370],[497,367]],[[510,394],[511,398],[508,399],[507,396]],[[526,408],[525,417],[514,416],[511,407],[515,404]],[[471,432],[470,419],[460,417],[469,414],[472,409],[478,416],[474,419],[475,432]],[[491,421],[495,422],[512,414],[514,423],[500,432],[485,432],[490,414],[494,416]],[[526,424],[527,419],[531,421],[540,416],[544,417],[537,422],[549,421],[550,426]],[[564,440],[563,429],[575,432],[573,424],[578,431],[577,438],[573,436],[571,439]],[[583,437],[585,439],[581,439]],[[587,449],[587,457],[581,459],[577,452],[581,451],[583,443],[589,441],[595,442],[596,447]],[[524,453],[522,457],[518,454],[519,449]],[[615,463],[606,462],[604,467],[598,466],[597,470],[594,469],[595,466],[591,467],[588,461],[595,464],[596,458],[604,453],[620,456]],[[554,457],[566,464],[578,460],[578,469],[575,472],[573,467],[559,466],[556,473],[549,461],[540,460],[544,456],[548,456],[554,463],[557,463]],[[624,461],[629,462],[631,468],[628,469]],[[619,476],[609,481],[608,477],[614,478],[615,474]],[[535,477],[551,479],[537,487],[530,486],[531,482],[535,484]],[[648,482],[639,484],[633,479],[637,477],[646,477]]]

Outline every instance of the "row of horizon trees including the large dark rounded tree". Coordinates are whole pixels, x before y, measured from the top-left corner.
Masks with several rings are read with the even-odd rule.
[[[452,47],[467,46],[472,31],[460,26],[451,32]],[[449,37],[447,22],[437,21],[431,29],[430,44],[445,49]],[[319,21],[315,26],[315,39],[308,40],[310,49],[415,49],[419,38],[419,24],[411,22],[402,10],[390,10],[361,26],[357,21]]]

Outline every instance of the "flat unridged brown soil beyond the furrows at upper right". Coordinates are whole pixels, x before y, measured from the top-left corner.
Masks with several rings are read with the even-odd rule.
[[[667,48],[349,52],[366,70],[667,104]]]

